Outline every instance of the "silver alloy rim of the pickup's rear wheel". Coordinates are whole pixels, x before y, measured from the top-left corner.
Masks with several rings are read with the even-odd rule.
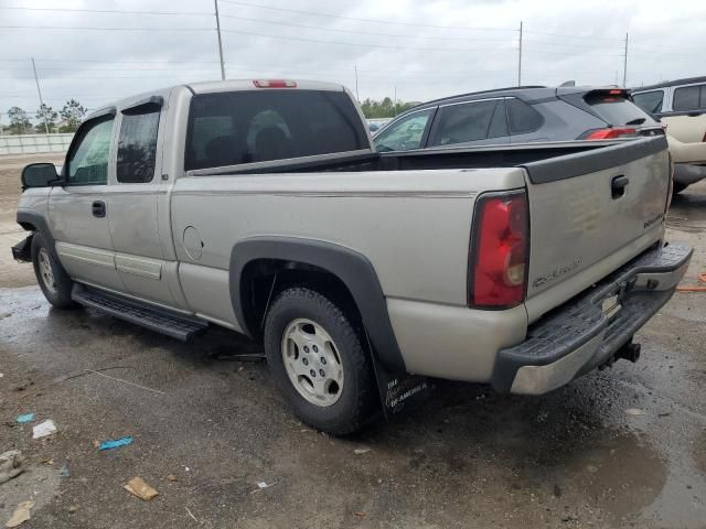
[[[334,404],[343,390],[343,365],[339,349],[318,323],[291,322],[282,336],[282,361],[299,395],[312,404]]]

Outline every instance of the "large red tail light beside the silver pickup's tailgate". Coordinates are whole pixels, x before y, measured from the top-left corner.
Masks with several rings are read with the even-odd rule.
[[[469,256],[469,305],[510,309],[525,299],[530,218],[524,191],[478,198]]]

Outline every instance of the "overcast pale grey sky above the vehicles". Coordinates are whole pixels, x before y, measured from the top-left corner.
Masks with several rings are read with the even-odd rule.
[[[706,75],[694,0],[218,0],[228,78],[339,82],[402,100],[517,83],[628,85]],[[32,8],[32,9],[18,9]],[[100,12],[97,12],[100,11]],[[129,12],[127,12],[129,11]],[[74,97],[95,108],[220,78],[213,0],[0,0],[0,111]],[[7,116],[0,116],[7,122]]]

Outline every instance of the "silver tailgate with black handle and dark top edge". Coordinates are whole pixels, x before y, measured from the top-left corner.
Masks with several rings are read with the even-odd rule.
[[[638,256],[664,234],[664,137],[532,162],[530,321]]]

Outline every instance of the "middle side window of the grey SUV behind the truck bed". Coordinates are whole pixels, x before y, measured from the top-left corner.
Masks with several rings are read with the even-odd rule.
[[[431,145],[451,145],[507,136],[502,99],[449,105],[439,109]]]

